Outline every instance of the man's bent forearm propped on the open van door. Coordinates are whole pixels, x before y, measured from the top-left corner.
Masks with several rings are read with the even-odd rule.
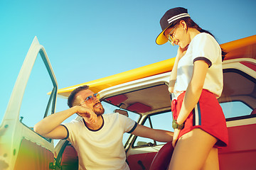
[[[60,111],[58,113],[53,113],[48,115],[46,118],[36,123],[34,126],[35,132],[40,135],[45,135],[54,130],[60,123],[63,123],[64,120],[69,118],[71,115],[77,112],[76,106],[69,108],[65,111]]]

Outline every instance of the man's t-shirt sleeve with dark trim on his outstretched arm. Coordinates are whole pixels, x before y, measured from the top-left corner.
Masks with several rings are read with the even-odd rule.
[[[119,114],[120,125],[124,129],[124,132],[131,133],[137,128],[137,122],[128,118],[125,115]]]

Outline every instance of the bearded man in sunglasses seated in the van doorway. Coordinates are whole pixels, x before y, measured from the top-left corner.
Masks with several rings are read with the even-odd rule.
[[[160,142],[172,140],[173,132],[147,128],[119,113],[105,114],[97,94],[80,86],[68,97],[69,109],[41,120],[34,130],[43,137],[68,139],[78,152],[79,169],[129,169],[122,145],[124,132]],[[82,117],[60,125],[74,113]]]

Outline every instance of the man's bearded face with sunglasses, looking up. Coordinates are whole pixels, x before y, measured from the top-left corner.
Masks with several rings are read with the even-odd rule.
[[[78,92],[75,98],[76,103],[82,103],[81,106],[91,108],[96,115],[102,115],[105,112],[105,110],[102,104],[100,103],[100,100],[96,97],[93,97],[93,94],[94,93],[90,90],[83,90]],[[89,96],[92,96],[92,100],[85,101],[85,99]]]

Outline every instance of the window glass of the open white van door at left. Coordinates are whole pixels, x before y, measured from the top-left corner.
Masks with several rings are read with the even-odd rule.
[[[47,93],[52,89],[53,83],[41,56],[38,54],[21,104],[21,123],[33,129],[33,126],[43,119],[50,98]],[[47,115],[50,113],[51,104]]]

